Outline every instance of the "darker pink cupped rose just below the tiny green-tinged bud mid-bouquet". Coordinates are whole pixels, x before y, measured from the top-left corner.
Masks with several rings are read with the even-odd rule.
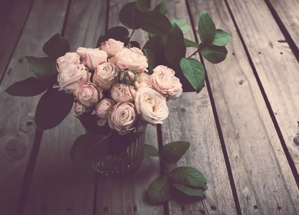
[[[111,97],[117,103],[133,102],[135,98],[135,89],[131,85],[115,83],[111,89]]]

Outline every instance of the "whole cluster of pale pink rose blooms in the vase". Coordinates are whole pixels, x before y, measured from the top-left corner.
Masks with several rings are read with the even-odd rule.
[[[56,68],[60,90],[75,96],[75,113],[96,114],[99,126],[109,123],[122,135],[162,123],[168,116],[166,101],[182,94],[172,69],[160,65],[149,75],[143,52],[114,39],[68,52],[57,59]]]

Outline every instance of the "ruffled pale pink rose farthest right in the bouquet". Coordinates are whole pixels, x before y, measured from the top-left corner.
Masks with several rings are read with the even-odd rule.
[[[175,72],[165,66],[157,66],[150,75],[152,88],[168,100],[176,100],[183,92],[182,85]]]

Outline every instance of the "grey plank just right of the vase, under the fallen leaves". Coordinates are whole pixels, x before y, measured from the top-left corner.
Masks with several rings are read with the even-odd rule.
[[[170,19],[182,18],[189,22],[184,0],[168,0],[166,3]],[[194,40],[192,30],[185,38]],[[187,49],[187,56],[194,51]],[[198,56],[195,58],[199,59]],[[175,102],[169,101],[168,108],[169,117],[161,125],[163,144],[178,140],[191,143],[184,157],[176,165],[169,165],[169,169],[195,167],[206,176],[208,185],[206,199],[202,202],[169,201],[170,215],[237,214],[207,88],[199,94],[184,93]]]

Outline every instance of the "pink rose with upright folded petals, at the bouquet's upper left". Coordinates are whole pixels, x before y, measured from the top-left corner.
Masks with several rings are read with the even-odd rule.
[[[90,49],[80,47],[77,49],[77,54],[80,55],[82,63],[90,70],[95,70],[97,66],[107,62],[107,53],[98,48]]]

